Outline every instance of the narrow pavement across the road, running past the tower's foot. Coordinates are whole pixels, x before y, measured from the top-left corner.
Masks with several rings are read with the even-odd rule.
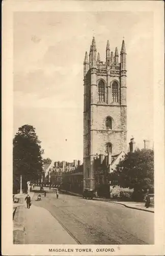
[[[65,193],[65,190],[62,190],[62,192]],[[82,195],[77,194],[77,193],[73,193],[70,191],[67,191],[68,194],[74,195],[74,196],[78,196],[78,197],[82,197]],[[154,207],[149,207],[146,208],[145,207],[145,202],[123,202],[123,201],[115,201],[113,199],[106,199],[106,198],[94,198],[94,200],[97,201],[104,201],[104,202],[109,202],[109,203],[115,203],[115,204],[121,204],[124,205],[127,208],[132,208],[132,209],[136,209],[136,210],[143,210],[143,211],[148,211],[148,212],[153,212],[154,213]]]

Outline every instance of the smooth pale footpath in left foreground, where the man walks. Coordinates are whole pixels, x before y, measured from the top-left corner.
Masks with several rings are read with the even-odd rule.
[[[48,210],[33,205],[25,208],[25,244],[77,244]]]

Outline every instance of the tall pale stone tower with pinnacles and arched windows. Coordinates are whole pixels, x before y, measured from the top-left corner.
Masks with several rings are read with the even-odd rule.
[[[126,152],[126,50],[122,41],[111,52],[106,45],[106,61],[97,54],[93,37],[84,59],[84,188],[95,188],[94,158],[102,154]]]

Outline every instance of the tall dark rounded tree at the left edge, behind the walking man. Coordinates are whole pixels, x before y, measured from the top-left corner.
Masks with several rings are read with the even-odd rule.
[[[32,125],[19,127],[13,139],[13,180],[20,180],[22,188],[26,189],[27,181],[36,181],[42,173],[41,141]]]

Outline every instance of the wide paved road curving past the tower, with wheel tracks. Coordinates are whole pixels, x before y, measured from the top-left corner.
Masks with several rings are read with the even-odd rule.
[[[47,191],[33,204],[47,209],[80,244],[153,244],[154,214],[114,203]],[[66,242],[67,244],[67,242]]]

